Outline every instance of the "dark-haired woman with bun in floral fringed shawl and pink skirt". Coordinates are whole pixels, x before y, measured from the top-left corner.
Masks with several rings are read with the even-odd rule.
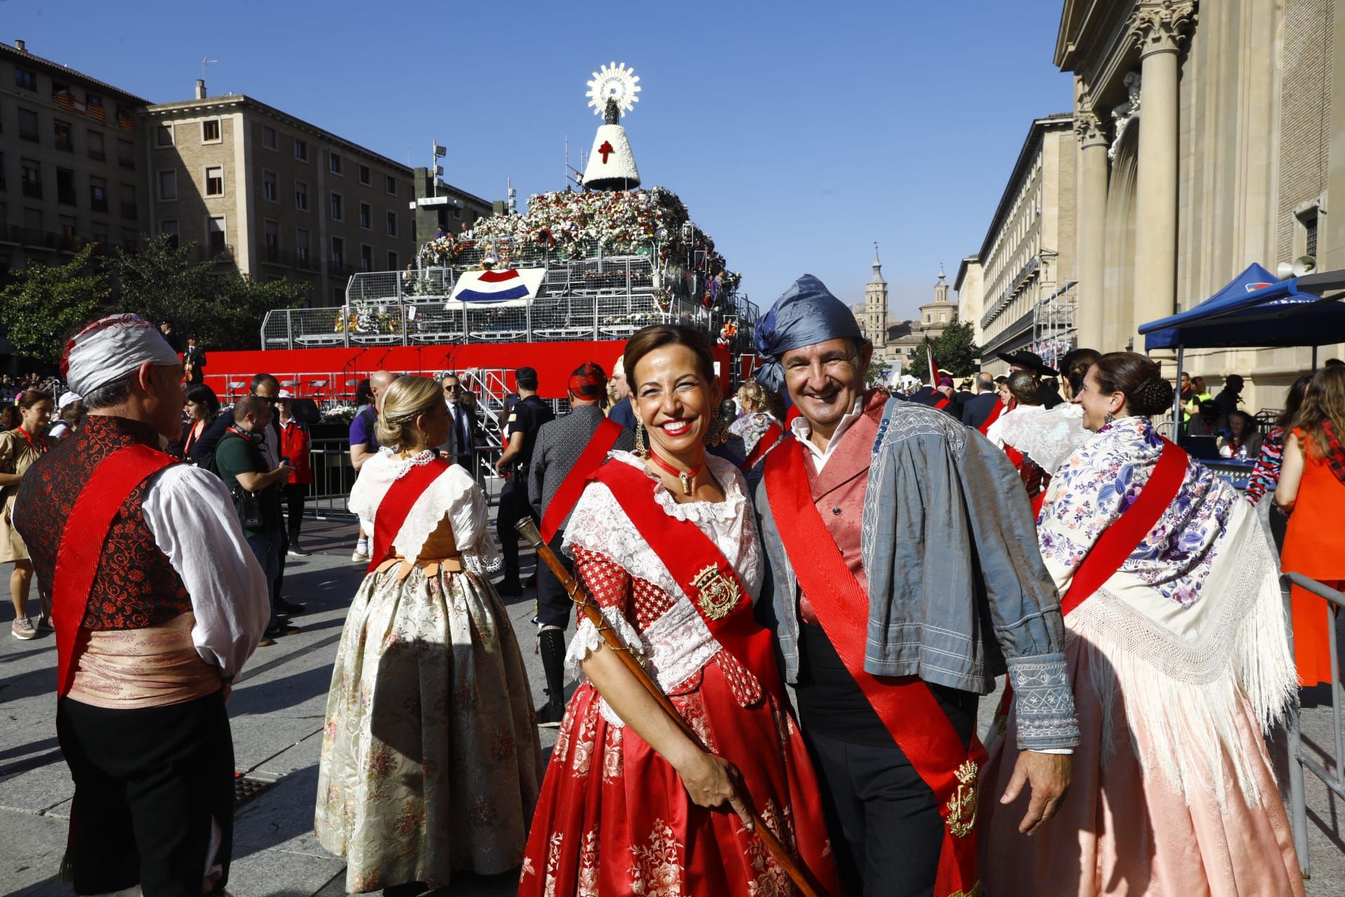
[[[1075,394],[1096,434],[1056,471],[1038,543],[1083,740],[1036,836],[982,802],[997,894],[1303,893],[1262,736],[1295,686],[1276,563],[1252,507],[1154,430],[1173,398],[1134,352],[1099,358]],[[983,793],[1011,773],[1005,729]]]

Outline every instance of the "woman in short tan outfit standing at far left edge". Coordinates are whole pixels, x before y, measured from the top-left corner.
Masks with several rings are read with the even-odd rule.
[[[13,623],[9,627],[15,639],[32,639],[38,629],[28,619],[28,592],[32,588],[32,561],[28,546],[13,529],[13,499],[19,494],[23,475],[32,463],[47,453],[51,440],[47,426],[51,424],[51,395],[38,390],[24,390],[19,394],[19,426],[0,433],[0,563],[13,563],[9,574],[9,597],[13,601]],[[51,628],[51,609],[46,601],[38,617],[38,627]]]

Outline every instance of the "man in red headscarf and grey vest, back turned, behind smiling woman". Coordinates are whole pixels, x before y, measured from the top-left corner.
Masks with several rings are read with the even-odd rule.
[[[542,519],[542,537],[568,569],[561,553],[565,524],[588,477],[612,449],[635,448],[635,433],[603,417],[607,375],[593,362],[580,364],[569,382],[570,413],[542,425],[533,446],[527,498]],[[542,670],[546,672],[546,705],[537,711],[537,725],[558,726],[565,715],[565,628],[570,620],[569,593],[545,563],[537,565],[537,625]]]

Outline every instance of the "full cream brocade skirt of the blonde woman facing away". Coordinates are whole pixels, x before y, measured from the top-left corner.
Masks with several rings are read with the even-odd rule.
[[[473,573],[364,577],[323,733],[315,831],[352,894],[523,859],[542,777],[504,604]]]

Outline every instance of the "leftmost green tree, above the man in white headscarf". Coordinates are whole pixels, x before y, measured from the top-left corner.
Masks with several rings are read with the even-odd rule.
[[[66,331],[108,305],[112,284],[90,266],[93,251],[90,243],[65,265],[32,262],[0,290],[0,320],[19,355],[55,364]]]

